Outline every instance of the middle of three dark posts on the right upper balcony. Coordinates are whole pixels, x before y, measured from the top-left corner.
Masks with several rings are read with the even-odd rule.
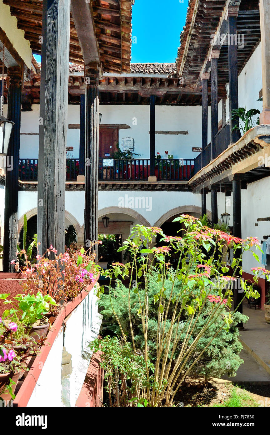
[[[212,51],[211,58],[211,160],[215,151],[215,136],[218,131],[218,114],[217,114],[217,59],[219,51]]]

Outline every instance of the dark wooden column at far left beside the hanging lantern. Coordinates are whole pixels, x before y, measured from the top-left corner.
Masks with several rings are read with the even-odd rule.
[[[15,124],[10,137],[10,146],[7,155],[9,164],[13,164],[12,171],[6,170],[5,180],[5,212],[4,212],[4,238],[3,238],[3,271],[13,272],[11,263],[16,259],[18,240],[18,192],[19,192],[19,158],[20,158],[20,120],[21,120],[21,93],[22,71],[20,67],[11,67],[7,70],[9,88],[7,97],[7,118]],[[12,166],[11,166],[12,167]]]

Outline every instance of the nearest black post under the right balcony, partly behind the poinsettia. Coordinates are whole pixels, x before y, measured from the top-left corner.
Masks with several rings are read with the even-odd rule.
[[[240,179],[233,180],[233,213],[234,213],[234,236],[242,238],[242,224],[241,224],[241,181]],[[241,249],[235,251],[234,257],[240,258]],[[237,282],[235,281],[234,288],[234,309],[239,305],[243,298],[243,291],[241,291],[240,274],[236,271]],[[236,285],[237,284],[237,285]],[[243,305],[240,304],[237,311],[243,313]],[[243,324],[238,325],[239,328],[243,327]]]

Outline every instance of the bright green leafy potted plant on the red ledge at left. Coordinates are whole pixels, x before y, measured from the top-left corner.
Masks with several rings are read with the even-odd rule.
[[[7,299],[10,294],[0,294],[0,299],[3,299],[4,305],[12,305],[13,308],[5,310],[3,317],[20,314],[21,319],[27,322],[27,325],[33,325],[40,321],[47,314],[51,306],[56,306],[55,300],[49,295],[43,295],[40,291],[34,294],[17,294],[13,297],[15,301]]]

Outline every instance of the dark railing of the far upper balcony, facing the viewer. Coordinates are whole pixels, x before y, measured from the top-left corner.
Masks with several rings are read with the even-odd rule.
[[[150,175],[150,159],[114,159],[112,166],[99,158],[99,181],[147,181]],[[108,161],[107,161],[108,164]],[[19,178],[37,181],[38,159],[20,159]],[[66,159],[66,181],[76,181],[79,175],[79,159]],[[191,159],[157,159],[157,181],[188,181],[194,175]]]

